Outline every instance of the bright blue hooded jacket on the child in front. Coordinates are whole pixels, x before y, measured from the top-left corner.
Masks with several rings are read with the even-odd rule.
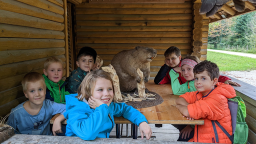
[[[93,109],[86,100],[79,101],[75,96],[77,93],[66,95],[66,136],[78,136],[83,140],[109,138],[114,127],[113,116],[123,116],[136,125],[147,122],[143,114],[125,103],[111,102],[109,106],[101,104]]]

